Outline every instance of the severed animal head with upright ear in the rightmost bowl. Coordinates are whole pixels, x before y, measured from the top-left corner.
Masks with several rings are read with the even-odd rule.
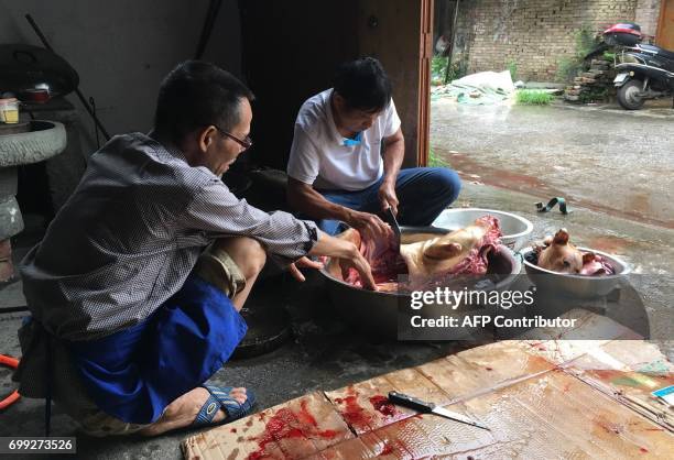
[[[601,255],[583,252],[569,241],[566,229],[558,230],[554,237],[545,237],[543,245],[534,247],[536,264],[551,272],[578,275],[611,275],[613,266]]]

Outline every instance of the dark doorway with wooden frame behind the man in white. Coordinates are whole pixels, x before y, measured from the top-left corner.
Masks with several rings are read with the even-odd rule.
[[[243,74],[257,96],[253,162],[285,171],[297,110],[343,62],[371,55],[393,83],[404,166],[428,155],[433,0],[240,1]]]

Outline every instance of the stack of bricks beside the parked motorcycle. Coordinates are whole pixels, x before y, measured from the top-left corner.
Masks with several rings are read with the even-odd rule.
[[[574,85],[566,88],[564,99],[569,102],[607,101],[615,92],[615,77],[610,61],[593,59],[589,70],[574,78]]]

